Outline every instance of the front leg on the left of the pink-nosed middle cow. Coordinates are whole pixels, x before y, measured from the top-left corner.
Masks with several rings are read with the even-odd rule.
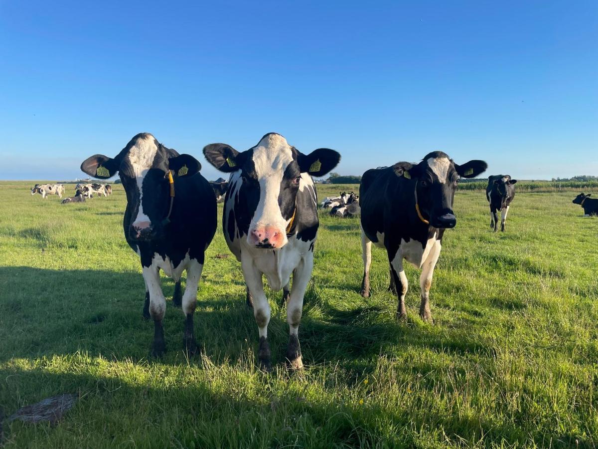
[[[270,344],[268,343],[270,304],[264,293],[262,274],[254,265],[254,261],[251,257],[245,256],[244,253],[241,253],[241,266],[243,268],[243,276],[245,277],[248,292],[253,298],[254,317],[255,322],[258,324],[258,332],[260,333],[260,349],[258,350],[260,369],[270,372],[272,371]]]

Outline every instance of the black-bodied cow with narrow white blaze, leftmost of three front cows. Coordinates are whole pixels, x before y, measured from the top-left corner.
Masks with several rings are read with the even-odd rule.
[[[147,133],[133,137],[114,158],[96,154],[81,164],[90,176],[105,179],[118,173],[123,181],[127,195],[124,238],[141,257],[144,316],[154,320],[154,356],[166,351],[160,269],[175,280],[175,300],[180,296],[176,290],[180,292],[182,272],[187,271],[183,342],[189,353],[197,349],[193,332],[197,284],[205,250],[216,232],[216,200],[200,169],[193,156],[166,148]]]

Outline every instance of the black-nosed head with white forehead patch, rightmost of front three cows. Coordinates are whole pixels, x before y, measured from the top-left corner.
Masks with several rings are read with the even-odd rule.
[[[398,162],[393,169],[397,176],[415,181],[414,195],[422,219],[434,227],[450,228],[457,224],[453,199],[459,178],[474,178],[487,166],[483,160],[458,165],[446,153],[433,151],[417,165]]]

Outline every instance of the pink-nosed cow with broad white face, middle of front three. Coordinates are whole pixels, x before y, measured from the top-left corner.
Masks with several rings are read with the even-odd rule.
[[[248,304],[254,307],[260,332],[260,366],[271,369],[267,340],[270,305],[262,281],[266,275],[272,290],[283,289],[284,297],[288,296],[286,360],[290,368],[299,369],[303,362],[297,332],[319,225],[316,189],[310,175],[327,174],[337,165],[340,154],[327,148],[303,154],[275,133],[266,134],[255,147],[240,153],[226,144],[212,144],[203,154],[215,168],[231,172],[222,228],[228,248],[241,262]]]

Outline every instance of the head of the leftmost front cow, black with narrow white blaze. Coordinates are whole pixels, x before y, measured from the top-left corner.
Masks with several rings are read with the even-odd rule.
[[[130,223],[125,226],[129,237],[138,241],[159,236],[167,225],[169,170],[176,178],[192,176],[201,168],[193,156],[164,147],[148,133],[133,137],[114,158],[95,154],[81,164],[81,170],[94,178],[120,175],[131,211]]]

